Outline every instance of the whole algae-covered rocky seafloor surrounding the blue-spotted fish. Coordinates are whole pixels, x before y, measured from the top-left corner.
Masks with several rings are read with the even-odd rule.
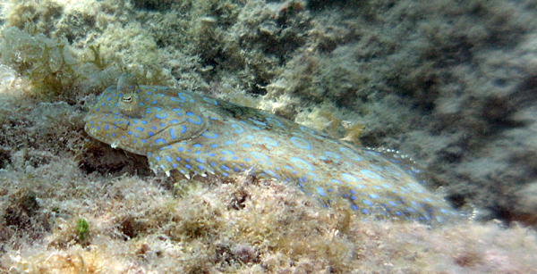
[[[0,273],[537,273],[535,1],[0,4]],[[473,218],[154,175],[83,130],[123,71],[409,154]]]

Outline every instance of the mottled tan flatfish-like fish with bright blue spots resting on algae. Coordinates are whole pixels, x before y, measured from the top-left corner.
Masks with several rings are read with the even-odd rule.
[[[251,172],[294,183],[324,204],[346,201],[373,219],[445,222],[456,217],[397,154],[354,147],[267,112],[122,76],[90,106],[91,137],[146,155],[152,170]],[[395,162],[398,162],[397,165]],[[342,200],[343,199],[343,200]]]

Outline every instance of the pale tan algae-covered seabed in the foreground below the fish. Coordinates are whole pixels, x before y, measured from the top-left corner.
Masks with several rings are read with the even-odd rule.
[[[39,171],[46,169],[55,167]],[[531,272],[537,251],[533,232],[519,226],[467,222],[431,230],[360,220],[277,182],[197,180],[180,198],[164,182],[132,175],[78,179],[74,187],[68,179],[44,181],[32,220],[54,212],[54,226],[8,238],[0,266],[29,273],[507,273]],[[90,224],[87,244],[81,220]]]

